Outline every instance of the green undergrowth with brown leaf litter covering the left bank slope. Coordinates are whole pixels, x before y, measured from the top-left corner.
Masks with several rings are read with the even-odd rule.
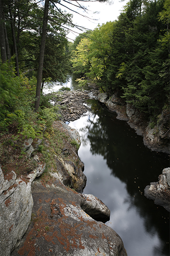
[[[0,70],[0,166],[4,174],[13,170],[17,176],[27,175],[37,167],[23,150],[23,142],[29,138],[42,140],[34,153],[53,168],[64,136],[52,127],[61,117],[59,108],[50,104],[50,96],[42,94],[40,108],[34,112],[37,79],[15,76],[12,62],[0,64]]]

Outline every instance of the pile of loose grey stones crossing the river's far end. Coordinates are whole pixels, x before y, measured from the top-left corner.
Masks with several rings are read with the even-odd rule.
[[[97,98],[98,90],[64,91],[63,93],[51,93],[51,95],[54,105],[61,107],[62,121],[71,122],[89,110],[85,103],[87,99]]]

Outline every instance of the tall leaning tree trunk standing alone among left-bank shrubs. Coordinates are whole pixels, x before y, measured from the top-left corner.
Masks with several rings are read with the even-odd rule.
[[[34,105],[35,111],[37,111],[40,106],[42,70],[43,70],[44,51],[45,51],[45,38],[46,38],[47,21],[48,21],[48,8],[49,8],[49,0],[45,0],[44,17],[43,17],[43,25],[42,25],[42,36],[41,36],[41,45],[40,45],[40,56],[39,56],[39,65],[38,65],[38,75],[37,75],[36,99],[35,99],[35,105]]]

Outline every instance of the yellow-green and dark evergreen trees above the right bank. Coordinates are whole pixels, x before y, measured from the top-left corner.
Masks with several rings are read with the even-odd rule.
[[[79,85],[94,83],[109,95],[158,116],[169,102],[170,0],[130,0],[119,19],[77,37],[74,73]],[[81,40],[80,40],[81,39]]]

